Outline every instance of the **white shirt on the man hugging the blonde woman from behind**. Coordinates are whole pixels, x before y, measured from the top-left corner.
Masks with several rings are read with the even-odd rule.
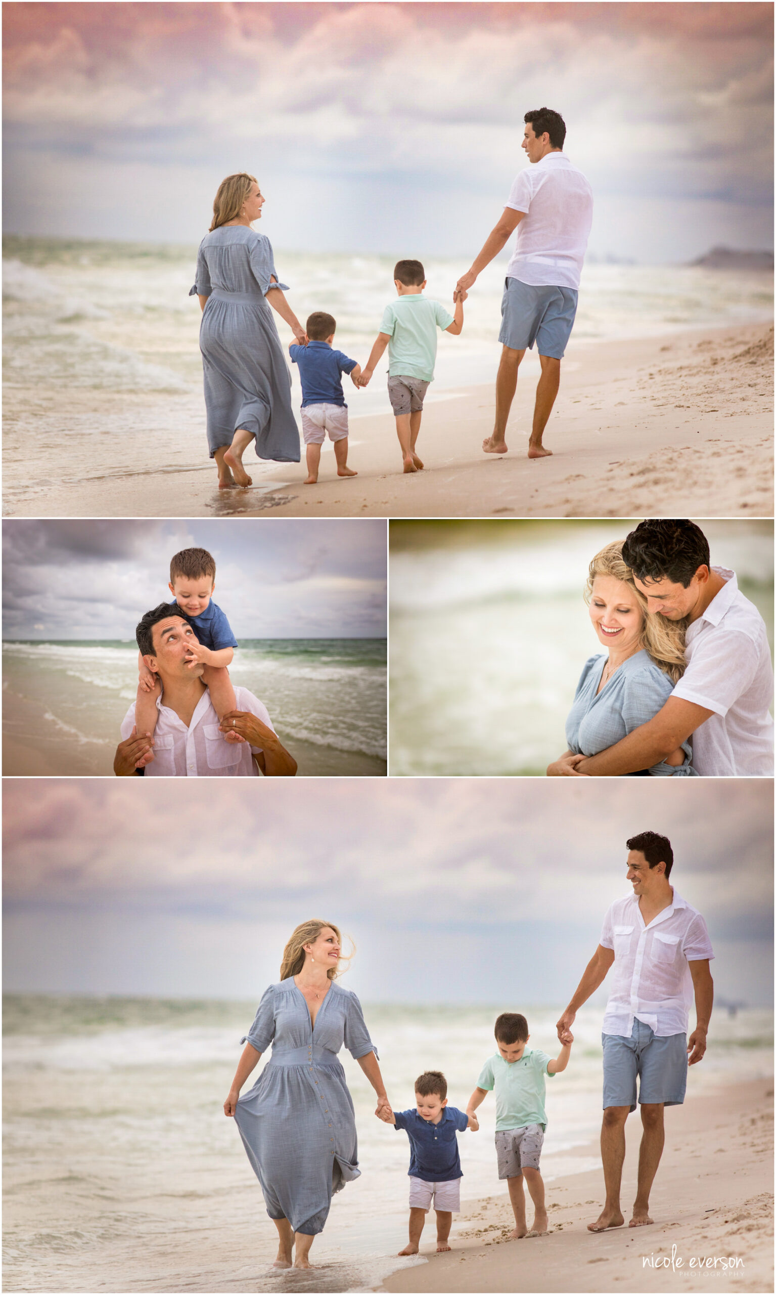
[[[687,670],[673,697],[714,711],[692,736],[692,764],[702,777],[773,777],[773,667],[766,623],[738,589],[735,572],[687,629]]]

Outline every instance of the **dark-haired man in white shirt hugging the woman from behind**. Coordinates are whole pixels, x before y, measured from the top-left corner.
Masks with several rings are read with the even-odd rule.
[[[598,755],[560,764],[572,773],[631,773],[663,760],[692,734],[692,765],[701,777],[772,777],[768,635],[735,572],[711,566],[706,536],[687,519],[641,522],[622,557],[649,613],[687,620],[687,670],[647,724]]]

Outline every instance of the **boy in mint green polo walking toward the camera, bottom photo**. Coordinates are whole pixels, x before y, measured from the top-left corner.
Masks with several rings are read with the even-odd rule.
[[[528,1022],[517,1011],[503,1011],[495,1022],[494,1033],[498,1053],[482,1066],[467,1114],[473,1116],[488,1093],[495,1092],[495,1154],[498,1176],[506,1178],[510,1188],[515,1213],[512,1237],[543,1237],[547,1211],[539,1156],[547,1127],[544,1076],[559,1075],[566,1068],[574,1036],[566,1030],[554,1061],[547,1053],[526,1046],[530,1039]],[[534,1203],[530,1232],[525,1222],[524,1178]]]

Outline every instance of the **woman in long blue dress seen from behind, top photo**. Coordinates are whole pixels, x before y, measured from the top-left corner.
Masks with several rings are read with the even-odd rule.
[[[242,462],[251,440],[260,458],[297,464],[300,457],[291,378],[272,311],[301,346],[307,334],[283,295],[288,285],[278,281],[269,238],[251,229],[264,201],[252,175],[229,175],[219,185],[189,293],[202,307],[207,443],[221,490],[251,486]]]

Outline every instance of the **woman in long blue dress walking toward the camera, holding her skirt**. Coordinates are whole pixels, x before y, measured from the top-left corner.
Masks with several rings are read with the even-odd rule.
[[[340,957],[334,923],[296,927],[283,951],[279,984],[266,989],[241,1040],[246,1048],[224,1102],[278,1229],[277,1268],[310,1267],[309,1250],[323,1230],[332,1193],[360,1176],[353,1102],[336,1057],[343,1044],[378,1094],[375,1115],[391,1115],[361,1004],[335,983]],[[270,1042],[268,1063],[241,1097]]]

